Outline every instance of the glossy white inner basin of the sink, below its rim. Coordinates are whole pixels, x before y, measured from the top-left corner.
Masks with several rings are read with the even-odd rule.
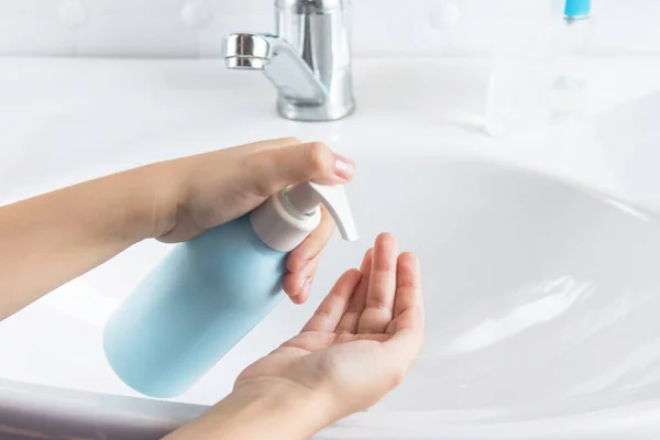
[[[102,354],[105,320],[170,249],[150,241],[0,323],[0,402],[14,403],[2,411],[52,411],[92,437],[99,426],[166,430],[229,393],[391,231],[421,261],[426,346],[399,388],[319,438],[660,436],[654,218],[495,163],[364,156],[359,167],[348,193],[361,241],[333,240],[308,304],[283,301],[188,393],[142,398]]]

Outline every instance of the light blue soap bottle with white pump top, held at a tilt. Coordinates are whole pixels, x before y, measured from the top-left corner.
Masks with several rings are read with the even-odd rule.
[[[106,326],[114,373],[151,397],[186,392],[284,297],[287,253],[318,227],[320,204],[358,239],[343,187],[307,182],[177,244]]]

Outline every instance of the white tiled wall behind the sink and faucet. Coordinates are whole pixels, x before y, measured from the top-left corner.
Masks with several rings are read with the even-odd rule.
[[[520,1],[561,0],[353,0],[354,51],[483,55]],[[660,0],[593,2],[597,53],[660,54]],[[216,56],[232,31],[273,31],[273,0],[0,0],[1,55]]]

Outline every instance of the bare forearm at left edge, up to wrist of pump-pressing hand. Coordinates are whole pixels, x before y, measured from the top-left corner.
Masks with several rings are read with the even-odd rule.
[[[157,173],[131,169],[0,207],[0,320],[151,237]]]

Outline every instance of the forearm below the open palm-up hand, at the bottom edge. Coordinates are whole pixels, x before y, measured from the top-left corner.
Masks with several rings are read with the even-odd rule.
[[[333,421],[319,392],[240,389],[165,440],[304,440]]]

